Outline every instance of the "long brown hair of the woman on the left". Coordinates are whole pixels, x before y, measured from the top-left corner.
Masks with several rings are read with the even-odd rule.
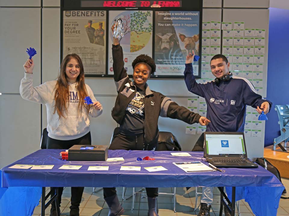
[[[86,106],[83,103],[83,99],[88,96],[88,93],[85,88],[85,83],[84,83],[84,69],[83,69],[83,64],[81,61],[81,58],[76,55],[76,54],[68,54],[65,56],[63,61],[61,62],[60,65],[60,73],[57,77],[57,82],[55,86],[55,95],[54,95],[54,100],[55,100],[55,105],[54,105],[54,112],[53,114],[57,111],[57,114],[59,116],[59,119],[61,117],[66,118],[65,114],[67,115],[67,107],[69,106],[69,103],[66,103],[67,100],[69,100],[69,84],[67,80],[67,75],[65,73],[66,65],[70,61],[70,59],[74,58],[80,67],[80,73],[78,77],[76,78],[76,89],[78,91],[78,97],[79,97],[79,103],[78,103],[78,116],[81,114],[83,106],[86,109],[86,112],[89,112],[89,106]]]

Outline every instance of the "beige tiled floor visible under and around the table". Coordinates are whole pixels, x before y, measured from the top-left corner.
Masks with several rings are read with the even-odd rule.
[[[283,184],[289,190],[289,179],[282,179]],[[117,188],[119,200],[122,200],[123,188]],[[159,192],[171,193],[171,188],[159,188]],[[288,191],[289,193],[289,191]],[[127,195],[132,194],[132,188],[127,188]],[[189,216],[197,215],[197,211],[194,211],[195,206],[195,188],[190,188],[186,191],[186,188],[177,187],[176,188],[176,211],[173,211],[173,199],[171,195],[159,195],[158,198],[158,208],[160,216]],[[132,208],[132,198],[122,201],[122,206],[125,209],[124,216],[146,216],[148,213],[147,199],[142,197],[146,195],[138,194],[135,198],[135,207]],[[127,196],[126,196],[127,197]],[[219,215],[219,192],[214,189],[214,201],[211,208],[211,216]],[[198,208],[200,205],[200,198],[197,202]],[[64,189],[62,194],[61,202],[61,215],[69,215],[70,206],[70,187]],[[49,214],[50,207],[45,211],[45,214]],[[39,216],[41,213],[41,206],[37,206],[34,210],[33,216]],[[241,216],[253,216],[250,206],[244,200],[240,201],[240,213]],[[80,215],[81,216],[107,216],[108,206],[104,202],[101,188],[96,188],[95,192],[92,193],[91,187],[85,187],[84,193],[82,195],[82,201],[80,203]],[[223,213],[224,215],[224,213]],[[237,213],[235,215],[238,215]],[[281,199],[279,203],[279,208],[277,216],[289,215],[289,199]]]

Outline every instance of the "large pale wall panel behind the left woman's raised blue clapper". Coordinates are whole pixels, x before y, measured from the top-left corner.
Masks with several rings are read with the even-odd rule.
[[[0,92],[19,93],[23,64],[33,47],[34,85],[40,84],[40,8],[0,8]]]

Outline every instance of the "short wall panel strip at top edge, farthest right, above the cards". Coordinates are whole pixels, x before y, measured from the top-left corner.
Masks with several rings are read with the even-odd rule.
[[[223,6],[224,7],[245,7],[245,8],[269,8],[269,3],[270,3],[270,0],[242,0],[242,1],[224,0]]]

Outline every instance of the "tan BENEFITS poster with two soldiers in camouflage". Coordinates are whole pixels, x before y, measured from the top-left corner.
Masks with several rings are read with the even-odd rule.
[[[66,10],[63,14],[63,58],[76,53],[86,75],[105,74],[106,11]]]

